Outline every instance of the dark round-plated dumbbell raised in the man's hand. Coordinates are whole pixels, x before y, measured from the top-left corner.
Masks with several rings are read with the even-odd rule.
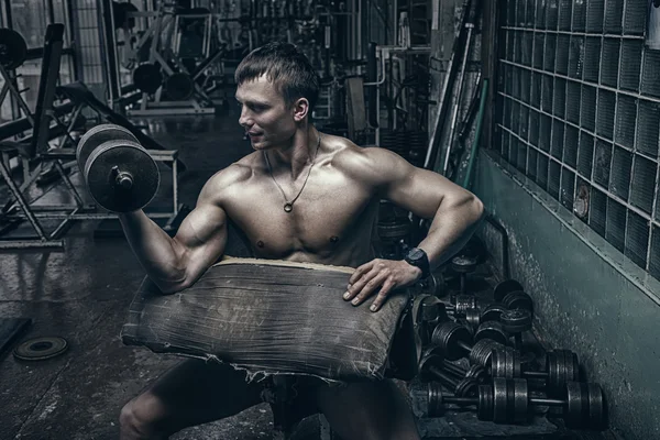
[[[123,127],[101,124],[89,130],[78,142],[76,160],[91,197],[109,211],[143,208],[158,190],[156,162]]]

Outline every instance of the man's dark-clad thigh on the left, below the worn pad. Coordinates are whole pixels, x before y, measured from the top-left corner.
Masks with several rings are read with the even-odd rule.
[[[162,375],[146,394],[158,402],[163,428],[176,432],[260,404],[262,386],[245,377],[230,365],[189,359]]]

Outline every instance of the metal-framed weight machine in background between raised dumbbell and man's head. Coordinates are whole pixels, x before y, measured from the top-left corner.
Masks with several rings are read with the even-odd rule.
[[[234,11],[211,13],[180,3],[161,1],[153,11],[138,11],[131,3],[105,0],[112,23],[106,45],[121,59],[107,64],[108,76],[121,82],[122,75],[112,70],[130,70],[131,86],[140,92],[138,99],[119,101],[128,105],[129,116],[213,114],[227,102],[211,94],[227,84],[224,59],[245,52],[251,38],[229,28],[243,25],[240,16],[229,18]],[[123,41],[117,43],[120,32]]]

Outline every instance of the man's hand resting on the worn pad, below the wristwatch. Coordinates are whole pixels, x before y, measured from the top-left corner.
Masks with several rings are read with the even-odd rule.
[[[350,300],[353,306],[359,306],[381,287],[370,307],[371,311],[378,311],[392,290],[410,286],[420,277],[421,270],[403,260],[372,260],[355,270],[343,299]]]

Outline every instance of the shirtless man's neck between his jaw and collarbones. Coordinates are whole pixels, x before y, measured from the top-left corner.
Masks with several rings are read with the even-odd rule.
[[[273,173],[288,170],[295,180],[316,158],[319,136],[318,130],[308,125],[306,130],[297,130],[288,145],[264,152]]]

